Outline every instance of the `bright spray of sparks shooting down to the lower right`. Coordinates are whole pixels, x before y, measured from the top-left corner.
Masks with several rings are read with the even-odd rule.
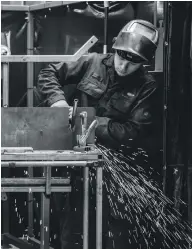
[[[136,244],[135,249],[190,248],[192,228],[182,221],[158,184],[141,166],[133,165],[133,158],[102,145],[97,148],[105,159],[103,180],[112,213],[131,224],[129,244]],[[113,237],[110,231],[109,235]]]

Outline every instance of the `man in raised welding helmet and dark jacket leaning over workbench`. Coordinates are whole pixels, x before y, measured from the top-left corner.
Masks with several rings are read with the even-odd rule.
[[[159,115],[158,85],[144,67],[155,55],[158,36],[158,30],[150,22],[132,20],[116,37],[113,53],[90,53],[76,62],[50,64],[38,77],[44,105],[70,108],[72,102],[62,87],[75,84],[72,99],[86,94],[87,106],[96,109],[95,134],[99,143],[115,149],[122,145],[142,148],[152,136]],[[117,225],[114,233],[119,234],[122,229]],[[80,248],[77,241],[68,243],[66,237],[63,236],[62,249]],[[123,237],[117,241],[115,249],[131,248]],[[104,248],[112,245],[109,242]]]

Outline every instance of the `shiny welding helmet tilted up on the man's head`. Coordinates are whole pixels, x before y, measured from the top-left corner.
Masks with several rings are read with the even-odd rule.
[[[133,53],[148,61],[155,54],[158,40],[158,30],[152,23],[144,20],[132,20],[119,32],[113,49]]]

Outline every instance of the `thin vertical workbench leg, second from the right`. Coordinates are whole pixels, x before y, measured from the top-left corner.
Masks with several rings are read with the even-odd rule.
[[[88,249],[89,243],[89,168],[83,169],[83,185],[84,185],[84,199],[83,199],[83,249]]]

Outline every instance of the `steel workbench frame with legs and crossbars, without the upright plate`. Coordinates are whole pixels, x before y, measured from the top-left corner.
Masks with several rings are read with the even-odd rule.
[[[41,178],[4,178],[2,192],[41,193],[41,249],[49,248],[49,209],[51,192],[71,192],[69,179],[51,177],[51,167],[82,166],[84,168],[83,248],[88,249],[89,167],[96,167],[96,248],[102,248],[102,162],[100,153],[74,151],[31,151],[31,148],[2,148],[3,167],[44,167]],[[36,159],[35,161],[33,161]],[[51,161],[49,161],[51,160]],[[70,163],[71,162],[71,163]],[[79,163],[80,162],[80,163]],[[85,170],[86,169],[86,170]],[[29,211],[29,209],[28,209]]]

